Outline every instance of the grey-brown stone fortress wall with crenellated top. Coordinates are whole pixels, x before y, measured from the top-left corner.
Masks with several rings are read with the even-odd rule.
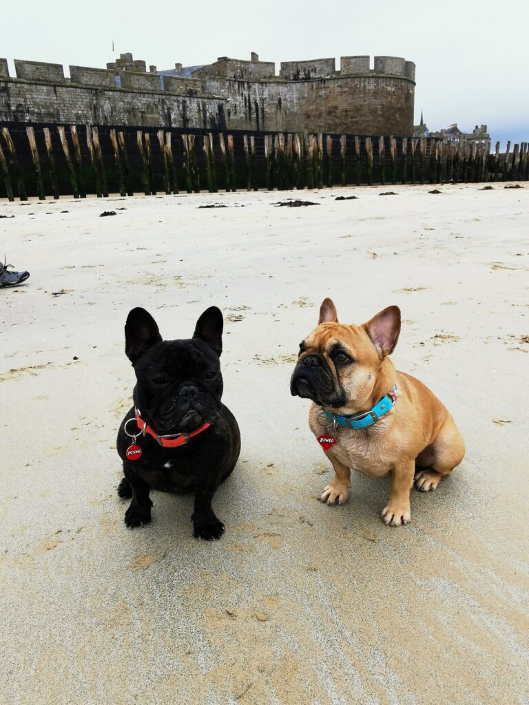
[[[219,56],[158,71],[127,52],[106,68],[0,59],[0,121],[411,135],[415,64],[399,56],[260,61]]]

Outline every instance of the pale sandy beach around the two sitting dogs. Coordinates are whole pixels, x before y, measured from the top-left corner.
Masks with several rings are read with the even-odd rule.
[[[0,203],[31,273],[0,290],[2,703],[528,705],[529,186],[433,188]],[[394,363],[466,441],[406,527],[389,480],[317,501],[332,467],[289,378],[326,296],[357,324],[401,307]],[[226,533],[193,539],[193,497],[158,492],[127,529],[128,311],[183,338],[210,305],[242,436]]]

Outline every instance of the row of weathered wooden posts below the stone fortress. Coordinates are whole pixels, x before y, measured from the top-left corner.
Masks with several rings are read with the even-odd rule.
[[[529,178],[528,143],[322,133],[0,125],[0,197],[75,198]]]

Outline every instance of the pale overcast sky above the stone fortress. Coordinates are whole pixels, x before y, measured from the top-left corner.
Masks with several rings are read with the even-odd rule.
[[[104,67],[120,53],[159,69],[217,56],[301,61],[357,54],[414,61],[415,123],[430,130],[487,124],[493,142],[529,141],[529,0],[357,0],[265,3],[178,0],[2,8],[0,56]],[[114,53],[112,41],[114,40]]]

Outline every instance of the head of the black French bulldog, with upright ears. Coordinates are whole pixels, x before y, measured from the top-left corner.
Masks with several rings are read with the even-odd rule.
[[[192,431],[219,414],[222,326],[221,312],[212,307],[198,319],[193,338],[162,341],[147,311],[137,308],[128,315],[126,354],[138,380],[135,405],[158,433]]]

